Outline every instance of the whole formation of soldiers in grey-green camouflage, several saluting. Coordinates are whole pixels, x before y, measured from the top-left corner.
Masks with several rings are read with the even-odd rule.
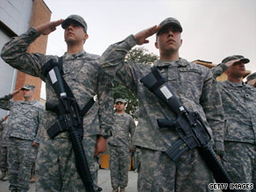
[[[40,35],[48,35],[58,25],[64,29],[67,53],[62,57],[43,53],[27,53],[26,50]],[[146,64],[126,63],[126,53],[133,46],[148,43],[147,38],[156,34],[155,47],[160,51],[160,60],[154,67],[166,78],[181,104],[196,111],[203,118],[212,137],[218,158],[224,163],[232,181],[254,183],[256,179],[256,89],[255,74],[247,84],[245,64],[250,60],[241,55],[232,55],[216,68],[205,68],[182,59],[179,49],[182,44],[180,22],[166,18],[160,25],[130,35],[111,45],[100,57],[83,50],[89,38],[88,25],[84,19],[71,15],[67,19],[48,22],[32,27],[20,36],[11,39],[2,49],[1,57],[12,68],[37,76],[46,82],[46,103],[59,103],[58,96],[46,79],[42,67],[49,60],[58,61],[61,75],[71,89],[77,105],[83,109],[94,96],[97,102],[90,104],[82,117],[82,144],[89,161],[92,179],[97,182],[97,159],[99,153],[110,144],[110,178],[114,192],[124,192],[128,183],[127,170],[130,153],[139,148],[138,191],[210,191],[213,175],[203,162],[198,149],[183,153],[177,161],[171,160],[167,149],[174,146],[179,135],[174,130],[160,129],[157,119],[174,120],[175,115],[164,103],[153,96],[140,82],[151,73]],[[226,82],[217,82],[216,77],[225,73]],[[124,98],[115,101],[113,114],[112,81],[131,89],[139,99],[139,124],[135,128],[131,116],[124,112]],[[254,86],[254,87],[253,87]],[[34,90],[32,85],[22,88],[26,97]],[[34,100],[12,102],[9,96],[1,98],[1,108],[10,110],[9,173],[10,190],[27,191],[32,159],[32,146],[38,146],[36,160],[37,191],[84,191],[82,179],[75,167],[75,154],[68,132],[60,132],[51,139],[47,133],[58,118],[53,110]],[[44,111],[44,115],[42,115]],[[39,139],[39,136],[40,139]],[[22,155],[17,157],[20,151]],[[129,157],[129,158],[128,158]],[[25,159],[22,174],[16,169],[17,158]],[[256,187],[256,183],[254,183]],[[253,190],[255,190],[255,187]],[[249,189],[247,189],[249,191]]]

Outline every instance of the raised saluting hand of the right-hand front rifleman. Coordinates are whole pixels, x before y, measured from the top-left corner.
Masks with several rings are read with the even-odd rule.
[[[148,37],[152,36],[154,33],[160,30],[160,25],[154,25],[146,30],[138,32],[134,35],[134,38],[137,40],[138,45],[143,45],[149,42]]]

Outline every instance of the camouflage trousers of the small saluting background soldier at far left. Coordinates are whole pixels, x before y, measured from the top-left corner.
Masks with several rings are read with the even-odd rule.
[[[10,190],[28,191],[33,160],[35,160],[35,149],[32,146],[32,141],[12,137],[9,139]]]

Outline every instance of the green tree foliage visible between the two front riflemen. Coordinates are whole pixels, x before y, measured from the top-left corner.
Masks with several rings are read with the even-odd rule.
[[[126,54],[124,59],[125,62],[129,63],[145,63],[148,65],[153,65],[153,63],[158,60],[158,56],[154,53],[148,53],[146,48],[139,47],[133,48],[129,53]],[[130,89],[125,88],[117,82],[114,82],[114,101],[117,98],[124,98],[126,100],[126,113],[132,115],[135,110],[138,109],[138,98]]]

